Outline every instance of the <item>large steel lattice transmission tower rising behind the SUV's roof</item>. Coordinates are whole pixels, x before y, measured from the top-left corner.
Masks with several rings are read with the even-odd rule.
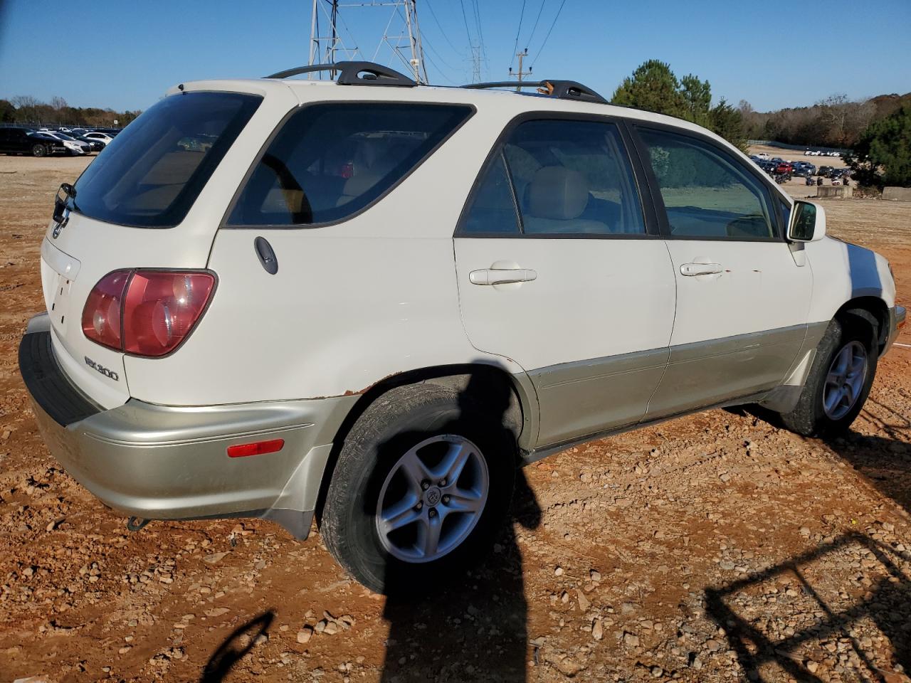
[[[343,52],[345,58],[354,59],[363,53],[357,47],[345,46],[339,31],[339,8],[345,8],[345,15],[355,9],[368,7],[385,7],[392,10],[386,22],[383,36],[374,50],[372,61],[376,61],[380,50],[386,46],[392,54],[402,61],[404,66],[415,77],[418,83],[427,83],[427,68],[424,60],[424,46],[421,44],[421,28],[417,23],[417,0],[365,0],[360,3],[340,3],[339,0],[313,0],[310,56],[308,64],[335,64],[337,52]],[[320,19],[327,22],[329,28],[323,36]],[[347,30],[347,29],[346,29]],[[352,38],[353,41],[353,38]],[[334,76],[334,73],[331,75]]]

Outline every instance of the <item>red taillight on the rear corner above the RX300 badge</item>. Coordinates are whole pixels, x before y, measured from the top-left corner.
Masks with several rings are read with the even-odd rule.
[[[118,351],[163,356],[187,338],[214,289],[210,272],[115,270],[89,293],[82,330]]]

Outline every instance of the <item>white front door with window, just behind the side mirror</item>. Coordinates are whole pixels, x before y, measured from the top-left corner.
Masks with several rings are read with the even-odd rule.
[[[790,202],[712,138],[635,129],[677,281],[670,362],[648,417],[777,386],[804,342],[813,284],[783,237]]]

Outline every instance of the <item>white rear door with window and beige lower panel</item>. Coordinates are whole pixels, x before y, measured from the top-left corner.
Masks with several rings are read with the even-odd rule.
[[[456,230],[467,336],[528,372],[539,446],[638,422],[667,363],[674,278],[627,148],[607,118],[520,117]]]

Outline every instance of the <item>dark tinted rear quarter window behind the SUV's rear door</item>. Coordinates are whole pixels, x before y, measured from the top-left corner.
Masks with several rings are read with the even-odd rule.
[[[471,107],[396,103],[302,107],[253,168],[228,225],[350,218],[417,168],[471,113]]]

